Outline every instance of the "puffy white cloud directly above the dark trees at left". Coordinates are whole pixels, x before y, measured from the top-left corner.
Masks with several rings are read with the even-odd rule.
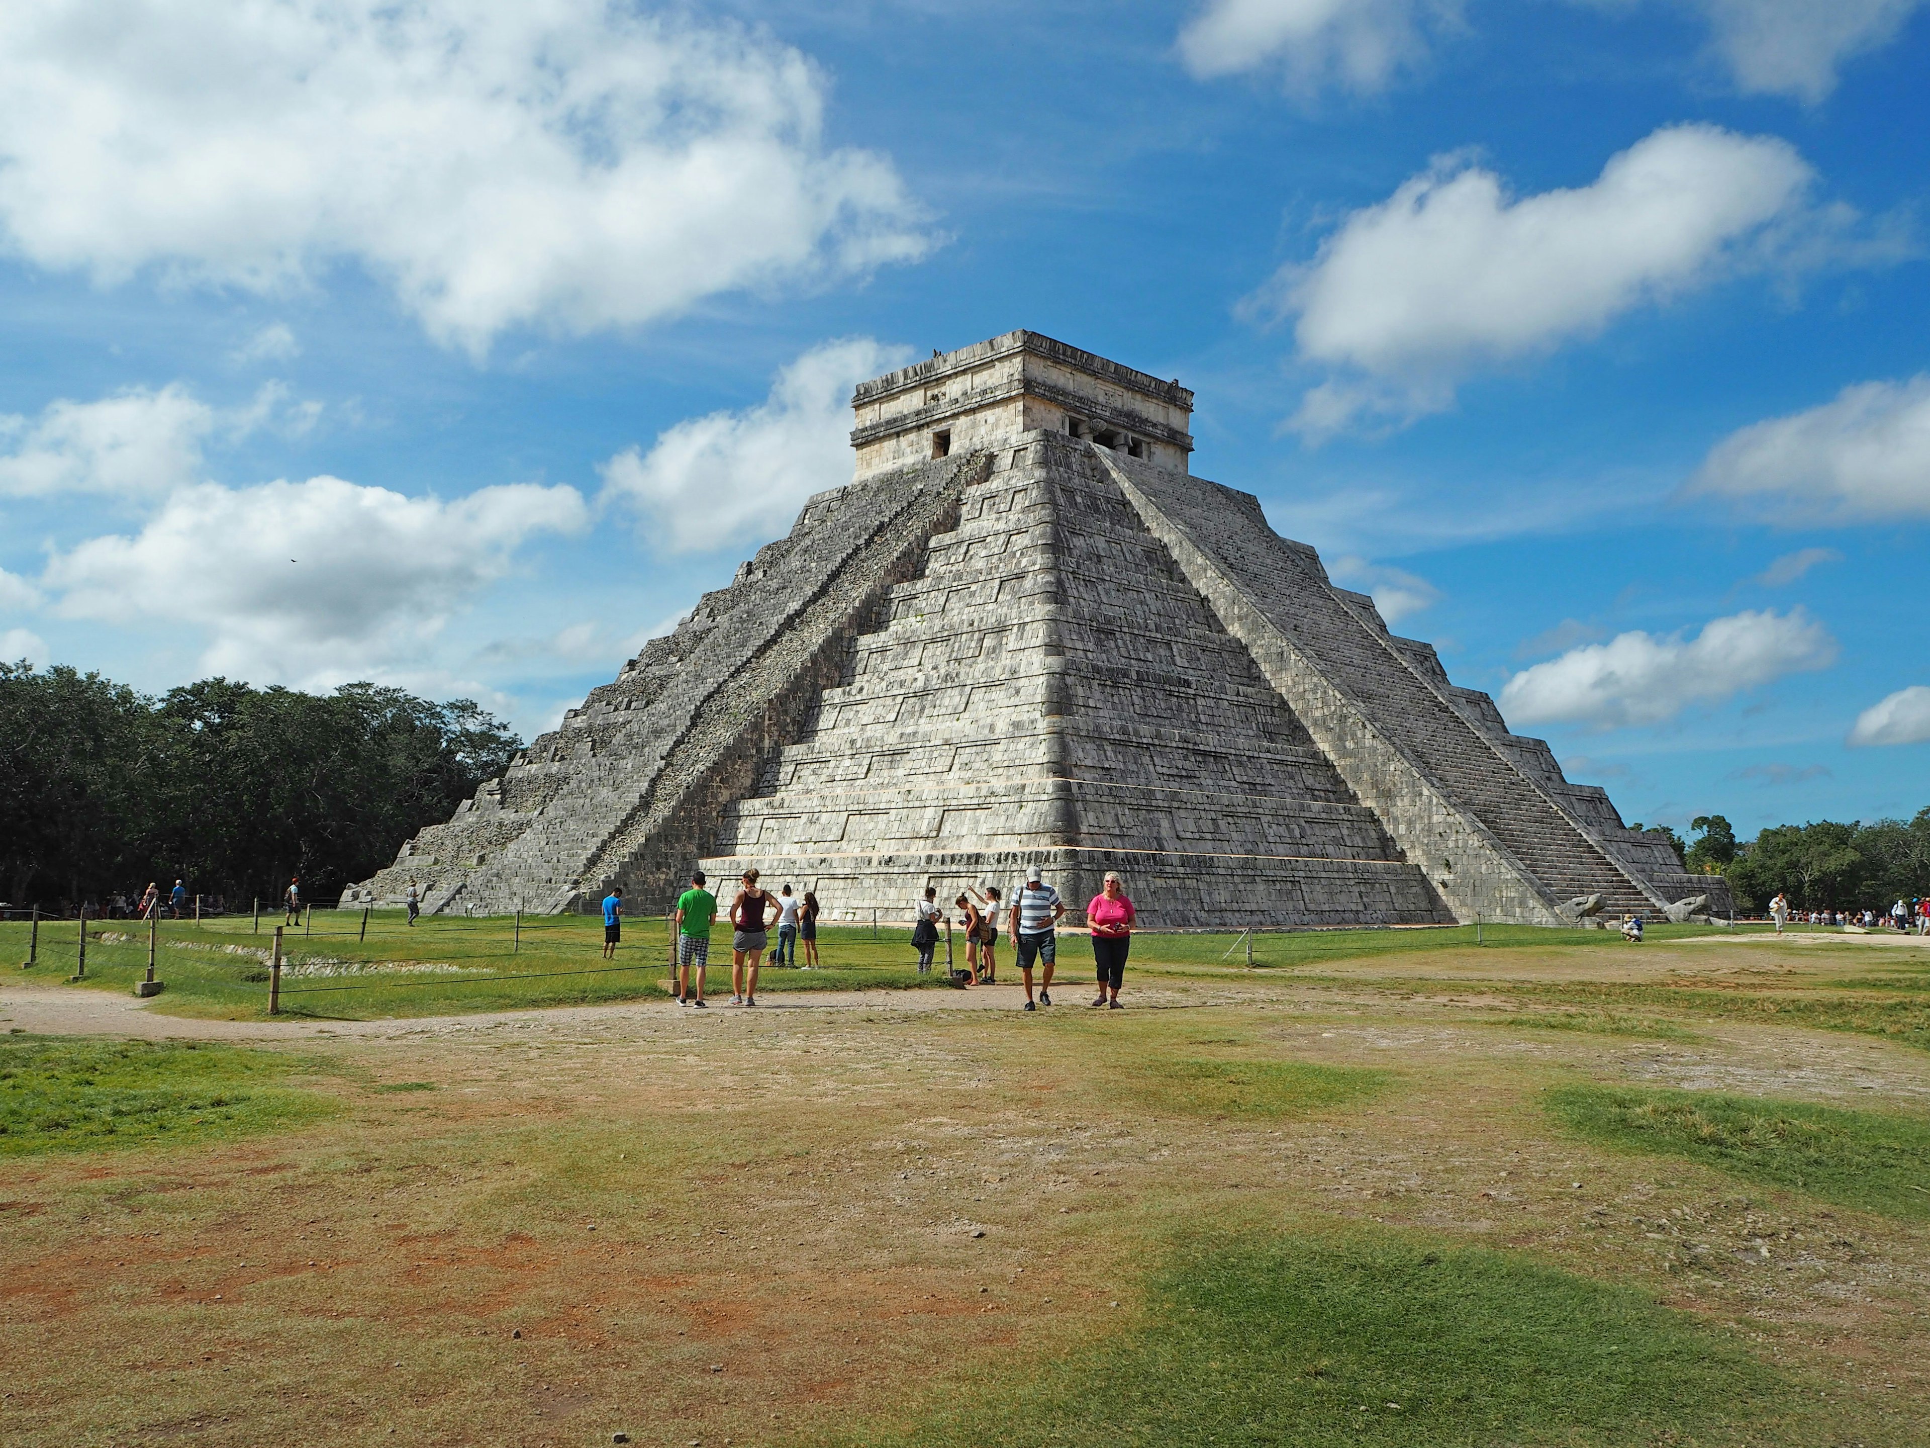
[[[54,612],[181,624],[201,666],[295,683],[409,660],[515,548],[587,521],[575,488],[510,485],[405,498],[338,477],[176,490],[141,533],[81,543],[42,575]]]

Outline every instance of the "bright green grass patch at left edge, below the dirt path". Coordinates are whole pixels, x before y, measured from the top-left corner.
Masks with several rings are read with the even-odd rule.
[[[199,1141],[330,1110],[284,1085],[299,1064],[237,1046],[0,1039],[0,1156]]]

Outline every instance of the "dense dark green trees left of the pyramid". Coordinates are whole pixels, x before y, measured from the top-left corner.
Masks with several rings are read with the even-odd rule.
[[[0,892],[71,911],[176,878],[235,907],[388,865],[523,747],[469,699],[224,678],[145,695],[98,674],[0,664]]]

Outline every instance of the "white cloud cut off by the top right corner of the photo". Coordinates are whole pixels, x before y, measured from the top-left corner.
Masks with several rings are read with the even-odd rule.
[[[1752,95],[1810,104],[1835,89],[1845,60],[1895,39],[1922,0],[1695,0],[1710,42]]]

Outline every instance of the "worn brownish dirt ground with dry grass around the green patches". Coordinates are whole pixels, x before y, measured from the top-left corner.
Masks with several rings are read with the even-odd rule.
[[[1866,1402],[1868,1442],[1922,1442],[1930,1230],[1585,1145],[1538,1099],[1633,1081],[1920,1112],[1930,1054],[1693,1017],[1529,1029],[1438,987],[1706,975],[1731,946],[1129,981],[1127,1012],[1073,981],[1033,1016],[994,987],[282,1025],[10,983],[10,1029],[262,1044],[340,1110],[0,1158],[0,1436],[687,1448],[915,1423],[979,1371],[1137,1321],[1177,1238],[1384,1222],[1646,1286]],[[1175,1056],[1392,1087],[1218,1116],[1146,1077]]]

